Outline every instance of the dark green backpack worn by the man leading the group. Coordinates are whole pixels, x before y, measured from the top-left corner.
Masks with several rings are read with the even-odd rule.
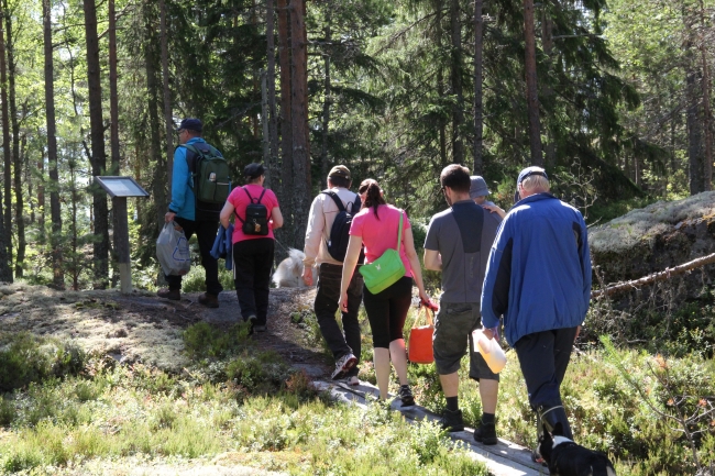
[[[196,219],[218,220],[231,192],[229,164],[221,153],[207,143],[182,144],[193,178]]]

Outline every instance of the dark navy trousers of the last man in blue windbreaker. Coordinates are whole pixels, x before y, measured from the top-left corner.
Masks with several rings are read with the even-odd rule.
[[[525,335],[514,344],[534,410],[561,405],[561,383],[575,335],[576,328],[554,329]]]

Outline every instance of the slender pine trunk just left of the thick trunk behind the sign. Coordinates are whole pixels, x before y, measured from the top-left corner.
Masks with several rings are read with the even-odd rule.
[[[59,209],[59,174],[57,171],[57,129],[55,124],[55,80],[52,49],[52,0],[42,1],[43,32],[45,47],[45,115],[47,119],[47,167],[50,168],[50,217],[52,233],[53,285],[57,289],[65,288],[65,270],[62,252],[62,212]],[[74,193],[74,191],[73,191]]]

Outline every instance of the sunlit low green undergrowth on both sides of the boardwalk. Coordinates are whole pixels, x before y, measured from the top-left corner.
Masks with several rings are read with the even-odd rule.
[[[667,286],[658,292],[668,295]],[[575,440],[606,452],[619,475],[714,474],[712,297],[679,310],[662,301],[632,313],[593,303],[562,386],[566,411]],[[411,310],[406,336],[415,317]],[[327,351],[309,309],[289,318],[308,345]],[[360,378],[374,383],[364,311],[361,322]],[[242,325],[227,332],[201,322],[182,342],[191,364],[172,373],[120,365],[72,342],[0,333],[0,471],[69,475],[92,462],[219,458],[290,474],[486,474],[435,424],[410,425],[377,403],[361,410],[330,401]],[[507,348],[507,357],[497,432],[532,446],[535,417],[516,355]],[[462,367],[460,405],[474,427],[479,388],[466,358]],[[409,377],[417,402],[441,411],[433,366],[413,364]]]

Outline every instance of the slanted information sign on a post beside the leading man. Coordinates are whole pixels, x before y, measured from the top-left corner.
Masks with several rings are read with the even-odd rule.
[[[119,258],[119,278],[123,295],[132,291],[132,265],[129,253],[129,222],[127,221],[127,197],[148,197],[148,192],[132,177],[95,177],[97,182],[112,198],[117,217],[114,240]]]

